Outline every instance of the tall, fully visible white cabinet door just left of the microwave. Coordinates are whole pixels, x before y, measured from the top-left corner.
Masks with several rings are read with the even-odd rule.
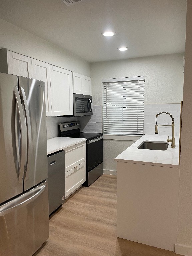
[[[52,116],[73,115],[72,72],[50,65]]]

